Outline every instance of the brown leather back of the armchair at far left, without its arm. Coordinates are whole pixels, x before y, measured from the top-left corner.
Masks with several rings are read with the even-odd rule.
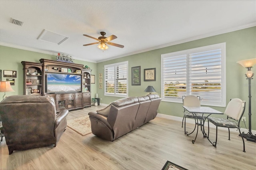
[[[56,109],[50,98],[37,95],[6,97],[0,116],[7,145],[32,144],[43,139],[54,143]]]

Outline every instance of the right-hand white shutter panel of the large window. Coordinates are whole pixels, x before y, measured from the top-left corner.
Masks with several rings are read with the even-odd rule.
[[[191,95],[210,103],[221,102],[221,49],[191,53],[189,57]]]

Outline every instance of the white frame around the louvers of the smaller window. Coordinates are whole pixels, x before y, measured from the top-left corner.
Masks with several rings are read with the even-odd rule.
[[[122,93],[116,93],[116,66],[119,65],[126,65],[126,93],[122,94]],[[114,93],[106,93],[106,68],[108,67],[114,67]],[[113,64],[108,64],[108,65],[104,65],[104,96],[114,96],[114,97],[128,97],[128,61],[123,61],[123,62],[119,62],[119,63],[113,63]]]

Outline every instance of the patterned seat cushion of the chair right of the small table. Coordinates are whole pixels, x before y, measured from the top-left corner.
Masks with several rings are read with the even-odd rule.
[[[238,128],[238,123],[218,117],[208,117],[208,120],[217,127]]]

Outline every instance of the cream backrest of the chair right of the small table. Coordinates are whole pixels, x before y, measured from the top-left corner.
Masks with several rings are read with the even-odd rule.
[[[240,117],[244,114],[245,110],[245,101],[235,98],[231,99],[228,103],[224,114],[232,117],[233,119],[239,120]]]

